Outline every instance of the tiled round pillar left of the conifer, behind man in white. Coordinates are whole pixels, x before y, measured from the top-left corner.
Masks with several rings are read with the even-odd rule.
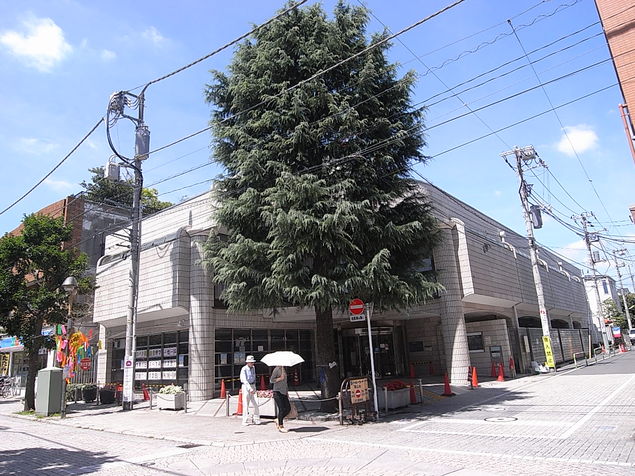
[[[214,310],[211,274],[199,263],[207,235],[192,236],[190,244],[190,341],[188,392],[190,400],[208,400],[214,393]]]

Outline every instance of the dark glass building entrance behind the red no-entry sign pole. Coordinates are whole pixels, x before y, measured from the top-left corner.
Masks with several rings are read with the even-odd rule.
[[[373,327],[373,357],[376,378],[402,376],[406,369],[403,327]],[[342,377],[370,375],[368,329],[340,329],[339,352]]]

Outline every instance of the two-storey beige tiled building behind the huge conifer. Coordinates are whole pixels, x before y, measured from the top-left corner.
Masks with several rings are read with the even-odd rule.
[[[467,381],[467,367],[489,375],[492,362],[526,371],[544,361],[542,330],[527,241],[464,202],[425,183],[441,223],[443,242],[429,265],[445,292],[407,310],[375,314],[373,352],[380,378],[445,373]],[[192,399],[208,399],[220,380],[229,388],[245,355],[275,350],[303,355],[302,381],[319,379],[314,366],[312,310],[288,308],[231,314],[199,260],[213,223],[213,203],[202,194],[144,219],[137,324],[137,383],[187,384]],[[118,236],[117,236],[118,235]],[[102,324],[100,381],[121,381],[130,260],[122,233],[107,239],[98,263],[95,322]],[[588,350],[588,312],[580,270],[540,250],[540,272],[552,322],[556,360]],[[364,322],[335,317],[342,376],[370,373]],[[432,369],[432,367],[434,367]],[[266,369],[260,369],[264,373]],[[293,375],[293,373],[291,373]]]

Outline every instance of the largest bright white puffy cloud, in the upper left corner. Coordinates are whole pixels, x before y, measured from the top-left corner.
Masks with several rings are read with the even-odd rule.
[[[8,30],[0,36],[0,44],[27,66],[50,71],[72,51],[64,32],[50,18],[30,18],[22,24],[26,34]]]

